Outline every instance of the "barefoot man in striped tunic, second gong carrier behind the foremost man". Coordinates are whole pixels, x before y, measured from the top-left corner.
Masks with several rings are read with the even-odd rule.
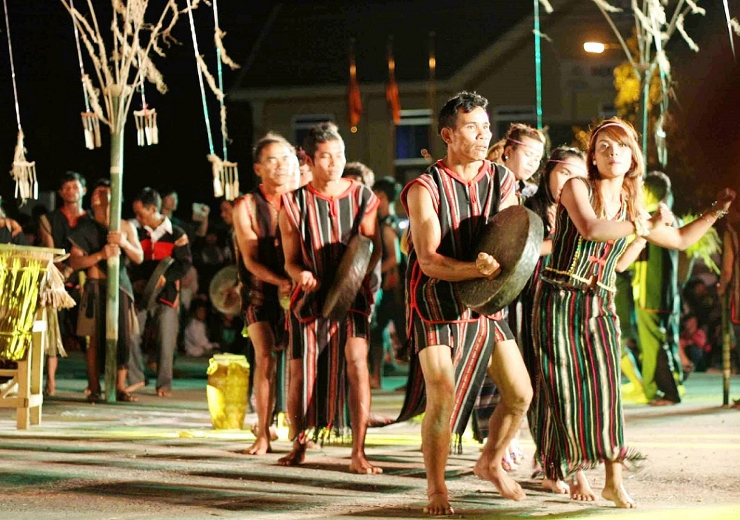
[[[381,473],[365,455],[370,412],[369,273],[381,252],[378,200],[367,186],[342,178],[346,158],[337,126],[314,126],[304,148],[313,179],[295,192],[283,195],[279,217],[286,272],[297,286],[289,314],[289,416],[295,440],[291,453],[279,462],[281,465],[303,462],[309,436],[317,440],[343,433],[344,406],[348,402],[345,390],[349,382],[352,433],[349,470]],[[327,291],[337,276],[347,243],[356,234],[371,238],[374,244],[369,269],[346,317],[329,320],[321,314]],[[300,406],[296,406],[297,402]]]

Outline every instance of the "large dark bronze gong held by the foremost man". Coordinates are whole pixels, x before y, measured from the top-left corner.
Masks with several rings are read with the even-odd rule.
[[[481,232],[471,260],[479,252],[488,253],[500,264],[501,272],[493,279],[458,282],[462,303],[480,314],[494,314],[514,301],[537,265],[543,230],[542,219],[524,206],[499,212]]]

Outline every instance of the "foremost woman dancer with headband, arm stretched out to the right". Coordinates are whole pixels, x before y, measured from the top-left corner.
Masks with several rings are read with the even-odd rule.
[[[669,249],[686,249],[722,217],[735,198],[724,189],[702,217],[676,229],[661,205],[647,215],[645,166],[633,127],[611,118],[593,130],[588,178],[568,180],[555,221],[550,263],[540,277],[532,327],[545,395],[540,419],[545,477],[564,480],[605,463],[602,497],[635,507],[622,484],[622,464],[641,459],[624,441],[619,394],[619,320],[614,270],[637,234]]]

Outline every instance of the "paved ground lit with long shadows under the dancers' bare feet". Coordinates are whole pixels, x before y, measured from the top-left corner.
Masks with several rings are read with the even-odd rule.
[[[175,396],[161,399],[147,388],[141,402],[90,405],[82,390],[84,366],[62,360],[59,394],[44,403],[44,423],[15,429],[14,414],[0,410],[0,519],[360,519],[423,518],[425,473],[420,425],[408,422],[371,430],[369,457],[382,476],[347,473],[349,447],[310,450],[306,465],[275,464],[289,449],[243,455],[252,435],[213,430],[205,401],[205,361],[178,359],[188,379]],[[373,410],[393,415],[403,378],[386,379]],[[733,379],[740,395],[740,378]],[[528,461],[515,473],[528,490],[523,502],[501,499],[471,472],[478,445],[465,442],[451,456],[448,481],[465,519],[738,519],[740,518],[740,411],[721,404],[721,377],[693,374],[682,405],[625,411],[630,445],[646,453],[627,486],[638,502],[620,511],[605,501],[570,502],[539,490],[529,479],[534,449],[526,430]],[[248,416],[246,424],[254,420]],[[595,487],[603,470],[588,473]]]

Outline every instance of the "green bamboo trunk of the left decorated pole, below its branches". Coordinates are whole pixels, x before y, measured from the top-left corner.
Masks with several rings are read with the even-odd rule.
[[[112,113],[119,114],[110,126],[110,223],[109,231],[121,231],[121,189],[124,177],[124,126],[126,114],[118,112],[126,104],[126,92],[120,85],[107,89]],[[118,371],[118,275],[121,257],[108,258],[108,280],[105,312],[105,400],[115,402],[115,378]]]

